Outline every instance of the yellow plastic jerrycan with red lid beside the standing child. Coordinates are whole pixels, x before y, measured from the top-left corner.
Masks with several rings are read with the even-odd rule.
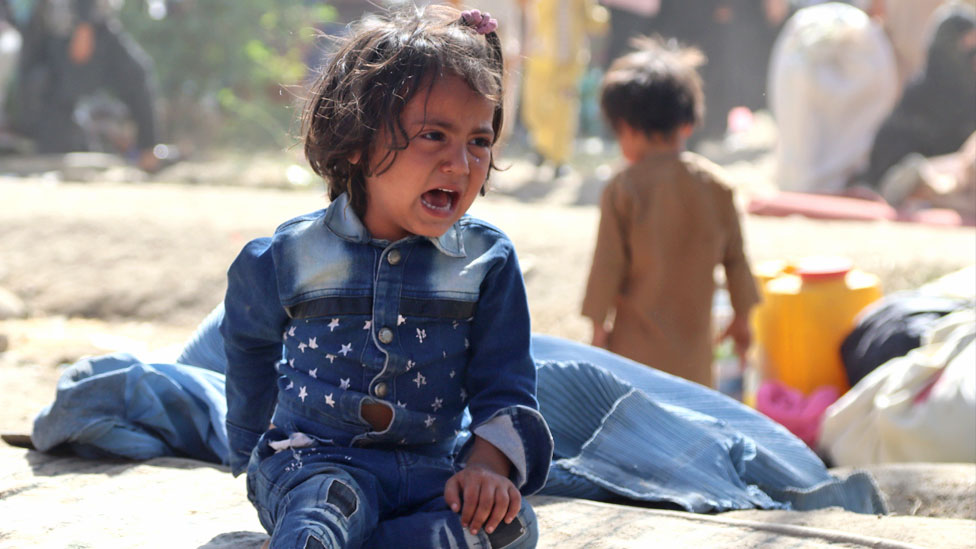
[[[806,394],[824,385],[846,392],[840,346],[861,309],[881,298],[878,277],[842,257],[809,257],[760,264],[756,278],[763,295],[754,317],[761,377]]]

